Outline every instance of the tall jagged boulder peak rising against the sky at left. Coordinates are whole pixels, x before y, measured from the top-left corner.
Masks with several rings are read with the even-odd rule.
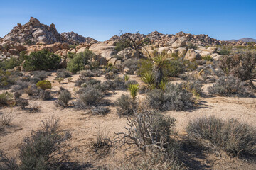
[[[67,40],[58,33],[53,23],[50,24],[50,26],[46,26],[33,17],[24,25],[18,23],[18,25],[1,40],[1,42],[11,41],[26,45],[33,45],[36,44],[36,42],[44,42],[46,44],[67,42]]]

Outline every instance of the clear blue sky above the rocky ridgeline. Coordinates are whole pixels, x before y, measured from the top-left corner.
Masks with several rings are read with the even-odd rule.
[[[124,32],[208,34],[218,40],[256,38],[256,0],[1,1],[0,37],[33,16],[96,40]]]

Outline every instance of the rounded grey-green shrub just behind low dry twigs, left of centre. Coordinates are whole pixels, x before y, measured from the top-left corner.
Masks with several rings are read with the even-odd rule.
[[[99,101],[102,99],[103,94],[100,90],[88,86],[79,95],[76,105],[78,108],[87,108],[89,106],[97,106]]]

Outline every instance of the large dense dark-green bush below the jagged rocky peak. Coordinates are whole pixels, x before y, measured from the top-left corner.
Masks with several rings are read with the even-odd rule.
[[[60,57],[53,52],[42,50],[38,52],[31,52],[26,55],[26,60],[23,68],[26,71],[41,70],[41,69],[57,69],[60,62]]]

